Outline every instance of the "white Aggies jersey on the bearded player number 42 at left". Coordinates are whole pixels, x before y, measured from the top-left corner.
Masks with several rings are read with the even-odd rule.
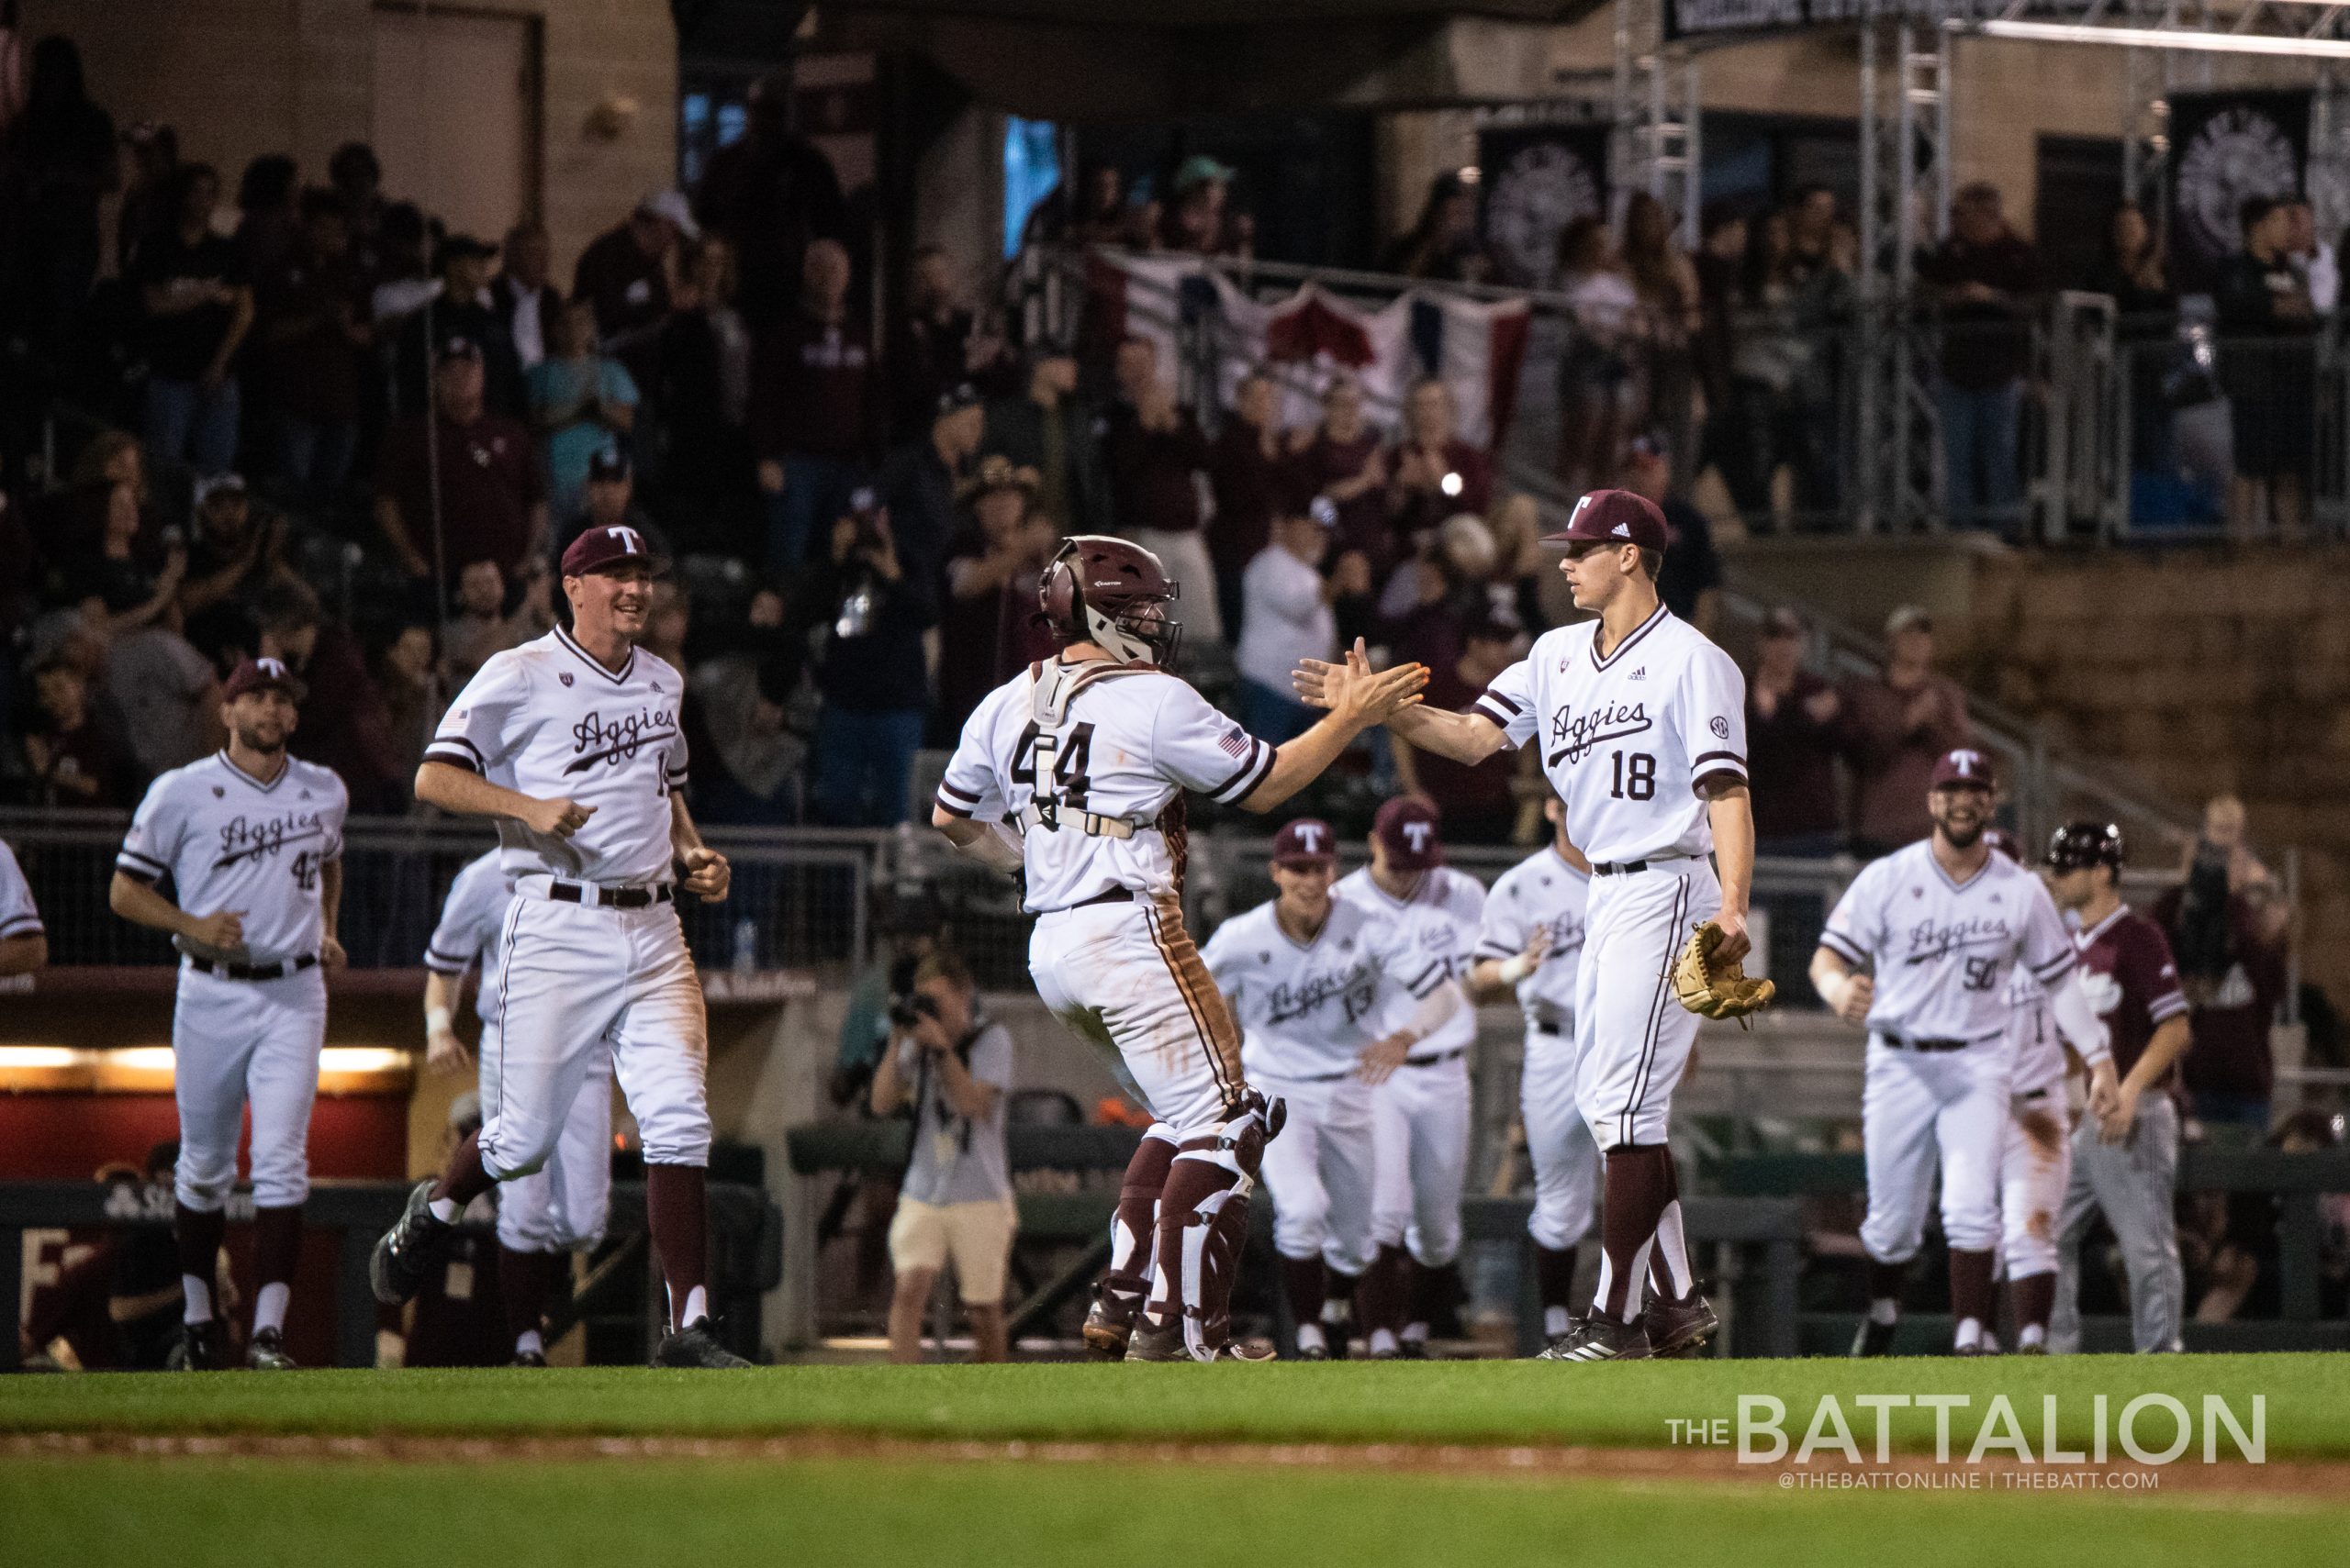
[[[141,883],[169,873],[190,915],[242,913],[237,962],[315,958],[320,871],[343,857],[345,812],[350,791],[329,768],[289,756],[263,784],[214,751],[148,784],[115,869]]]

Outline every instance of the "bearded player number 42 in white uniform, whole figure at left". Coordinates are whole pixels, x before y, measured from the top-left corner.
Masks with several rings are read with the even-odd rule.
[[[125,920],[181,951],[172,1007],[179,1171],[172,1232],[186,1317],[172,1366],[204,1371],[226,1347],[212,1279],[254,1110],[254,1336],[247,1364],[294,1366],[287,1303],[310,1197],[310,1101],[327,1040],[327,972],[343,967],[343,817],[327,768],[287,756],[301,683],[247,660],[221,688],[228,746],[148,786],[108,894]],[[172,878],[176,904],[155,883]]]

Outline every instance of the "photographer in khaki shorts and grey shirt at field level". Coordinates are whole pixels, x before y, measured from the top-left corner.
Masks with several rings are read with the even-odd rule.
[[[874,1115],[914,1108],[914,1148],[888,1228],[898,1284],[888,1303],[888,1359],[921,1359],[921,1312],[938,1270],[954,1258],[978,1361],[1003,1361],[1003,1265],[1020,1211],[1003,1155],[1003,1096],[1013,1038],[975,1007],[971,969],[931,953],[912,993],[891,1000],[891,1042],[874,1073]]]

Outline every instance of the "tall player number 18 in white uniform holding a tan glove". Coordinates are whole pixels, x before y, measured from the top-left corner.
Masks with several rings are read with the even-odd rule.
[[[1746,681],[1659,603],[1671,533],[1654,502],[1593,491],[1544,542],[1565,547],[1574,606],[1598,620],[1544,631],[1466,714],[1405,709],[1389,728],[1469,765],[1535,739],[1567,803],[1567,838],[1596,878],[1577,972],[1574,1099],[1607,1169],[1598,1298],[1542,1354],[1643,1359],[1716,1329],[1690,1275],[1666,1143],[1673,1087],[1697,1042],[1697,1014],[1673,1000],[1673,960],[1708,918],[1723,930],[1723,962],[1748,948]],[[1300,697],[1323,702],[1330,669],[1309,660]],[[1650,1275],[1654,1300],[1643,1307]]]

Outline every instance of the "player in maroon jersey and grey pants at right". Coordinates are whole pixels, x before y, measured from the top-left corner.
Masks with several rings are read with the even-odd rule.
[[[2129,1275],[2138,1352],[2178,1350],[2183,1284],[2171,1190],[2178,1176],[2178,1059],[2193,1045],[2188,1000],[2162,927],[2122,904],[2122,831],[2075,822],[2049,840],[2056,904],[2080,925],[2082,991],[2113,1030],[2122,1082],[2073,1134],[2073,1174],[2056,1216],[2061,1268],[2049,1350],[2080,1350],[2080,1244],[2103,1211]]]

